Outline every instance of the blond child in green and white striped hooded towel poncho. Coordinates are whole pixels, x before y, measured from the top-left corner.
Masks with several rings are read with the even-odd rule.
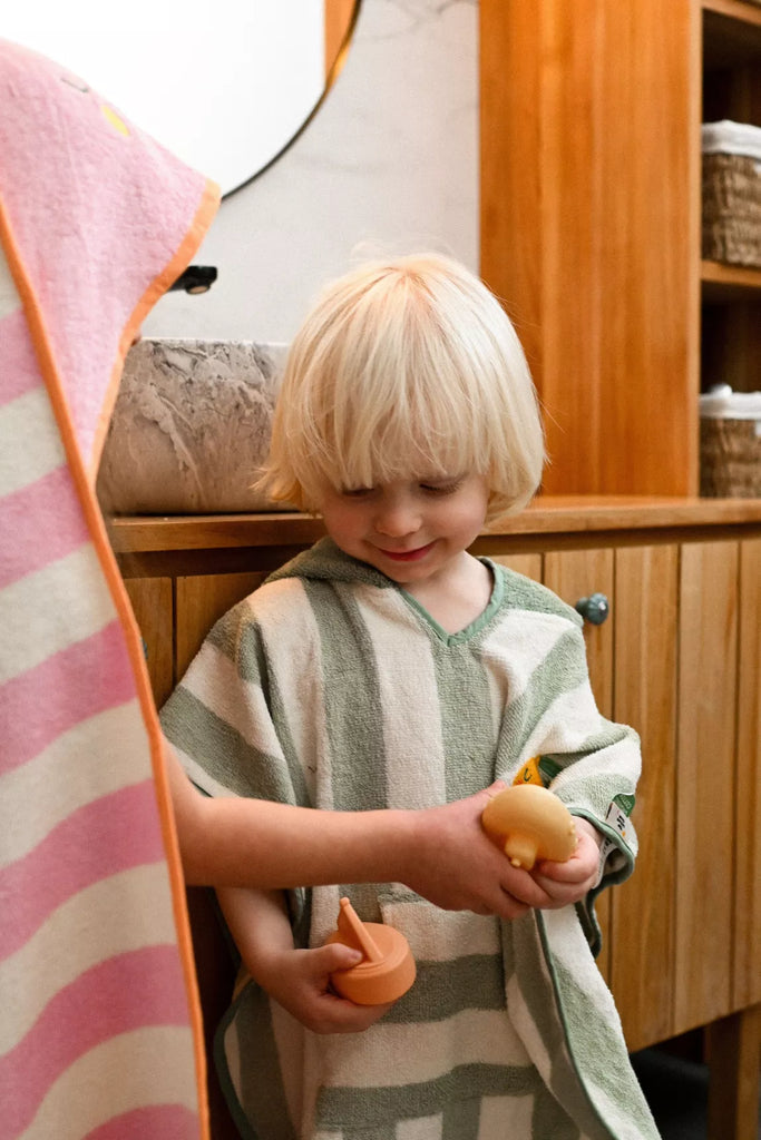
[[[217,624],[164,731],[209,796],[340,811],[525,771],[578,846],[505,868],[507,920],[402,885],[220,889],[243,966],[218,1053],[243,1135],[657,1135],[590,951],[596,891],[632,868],[638,740],[594,706],[576,613],[468,553],[542,464],[524,353],[469,271],[403,258],[327,288],[289,353],[264,482],[329,537]],[[330,990],[342,895],[410,942],[418,978],[391,1007]]]

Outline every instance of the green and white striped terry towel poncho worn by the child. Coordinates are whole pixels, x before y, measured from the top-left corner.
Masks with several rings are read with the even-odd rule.
[[[486,561],[491,602],[455,635],[329,539],[277,571],[214,626],[162,710],[192,780],[211,796],[422,808],[539,754],[609,837],[604,882],[624,878],[638,739],[594,706],[578,616]],[[319,887],[290,895],[297,944],[324,942],[342,895],[403,931],[418,979],[365,1033],[317,1036],[242,976],[218,1051],[243,1135],[657,1135],[593,962],[591,899],[500,922],[400,885]]]

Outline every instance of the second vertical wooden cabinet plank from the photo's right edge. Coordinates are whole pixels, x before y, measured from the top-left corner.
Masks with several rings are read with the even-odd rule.
[[[737,577],[737,543],[682,545],[675,1033],[731,1007]]]

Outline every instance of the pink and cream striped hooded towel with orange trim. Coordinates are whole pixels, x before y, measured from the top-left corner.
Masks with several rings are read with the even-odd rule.
[[[0,41],[0,1133],[208,1134],[161,732],[92,483],[218,192]]]

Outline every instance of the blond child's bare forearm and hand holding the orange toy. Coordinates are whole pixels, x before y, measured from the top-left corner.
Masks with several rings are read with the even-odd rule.
[[[333,970],[362,955],[341,943],[297,950],[280,891],[226,887],[219,903],[251,977],[313,1033],[359,1033],[390,1005],[355,1005],[330,988]]]

